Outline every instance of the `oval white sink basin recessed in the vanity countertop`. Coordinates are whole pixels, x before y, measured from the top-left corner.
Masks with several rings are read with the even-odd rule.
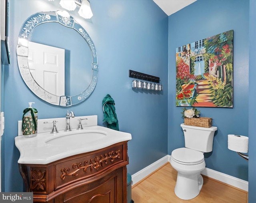
[[[61,135],[58,137],[46,140],[46,144],[50,145],[76,145],[76,147],[84,144],[93,144],[95,141],[99,141],[107,136],[104,131],[69,131],[67,135]]]

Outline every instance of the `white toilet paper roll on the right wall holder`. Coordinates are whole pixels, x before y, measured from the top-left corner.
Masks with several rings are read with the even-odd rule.
[[[247,153],[248,137],[243,135],[228,135],[228,149],[232,151]]]

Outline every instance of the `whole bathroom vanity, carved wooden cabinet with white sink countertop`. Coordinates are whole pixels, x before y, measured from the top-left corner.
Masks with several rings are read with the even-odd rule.
[[[95,119],[87,118],[83,125]],[[130,139],[130,133],[98,125],[17,136],[26,191],[33,192],[36,203],[126,203]]]

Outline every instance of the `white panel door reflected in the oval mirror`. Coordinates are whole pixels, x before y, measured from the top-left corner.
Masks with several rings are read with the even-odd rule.
[[[65,95],[65,50],[29,42],[28,64],[34,80],[47,92]]]

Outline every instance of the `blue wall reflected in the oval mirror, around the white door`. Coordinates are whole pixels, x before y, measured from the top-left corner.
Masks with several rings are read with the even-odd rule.
[[[65,94],[61,96],[78,95],[89,86],[92,79],[92,54],[86,40],[76,30],[58,22],[43,23],[33,29],[29,42],[65,50]]]

